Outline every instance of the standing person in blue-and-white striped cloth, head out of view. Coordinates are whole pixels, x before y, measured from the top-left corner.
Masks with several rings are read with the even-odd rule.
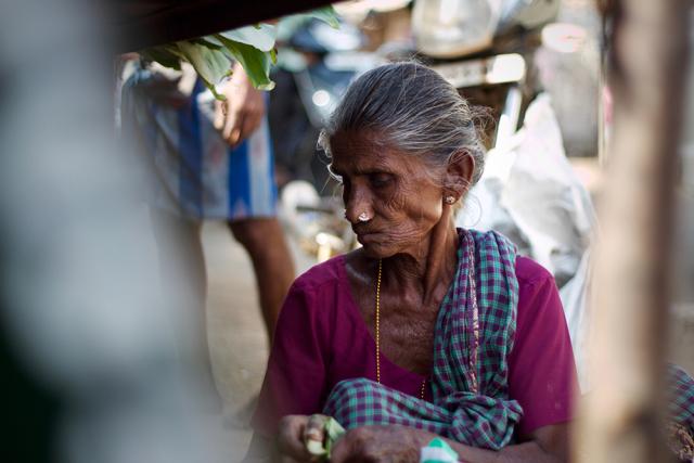
[[[275,216],[262,92],[237,64],[221,88],[224,102],[204,90],[191,66],[172,72],[136,64],[124,85],[121,124],[155,179],[149,185],[151,213],[165,287],[184,320],[177,330],[182,350],[191,352],[190,363],[217,398],[206,334],[202,221],[227,221],[248,252],[270,338],[294,263]]]

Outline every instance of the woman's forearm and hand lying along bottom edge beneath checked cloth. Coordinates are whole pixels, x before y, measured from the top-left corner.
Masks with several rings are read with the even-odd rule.
[[[500,451],[476,449],[445,439],[465,463],[558,463],[568,460],[566,424],[544,426],[531,440]],[[419,462],[420,449],[435,437],[404,426],[362,426],[348,432],[333,448],[331,462]]]

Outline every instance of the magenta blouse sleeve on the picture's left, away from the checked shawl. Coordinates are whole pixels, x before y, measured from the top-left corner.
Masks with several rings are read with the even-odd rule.
[[[320,411],[324,395],[325,318],[318,316],[316,294],[300,281],[290,288],[274,333],[258,408],[255,430],[272,437],[282,416]]]

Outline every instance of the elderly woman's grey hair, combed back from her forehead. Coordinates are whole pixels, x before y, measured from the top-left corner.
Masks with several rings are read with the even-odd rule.
[[[335,133],[377,132],[387,146],[444,169],[453,154],[465,152],[475,162],[475,184],[486,154],[476,124],[479,116],[435,70],[413,62],[386,64],[351,83],[319,144],[330,156],[330,139]]]

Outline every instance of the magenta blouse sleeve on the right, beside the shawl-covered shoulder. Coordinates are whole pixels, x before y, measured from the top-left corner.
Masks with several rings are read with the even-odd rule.
[[[523,407],[520,438],[539,427],[571,420],[578,390],[571,342],[552,275],[528,259],[532,278],[519,280],[518,317],[509,357],[511,398]],[[518,272],[520,273],[520,272]]]

